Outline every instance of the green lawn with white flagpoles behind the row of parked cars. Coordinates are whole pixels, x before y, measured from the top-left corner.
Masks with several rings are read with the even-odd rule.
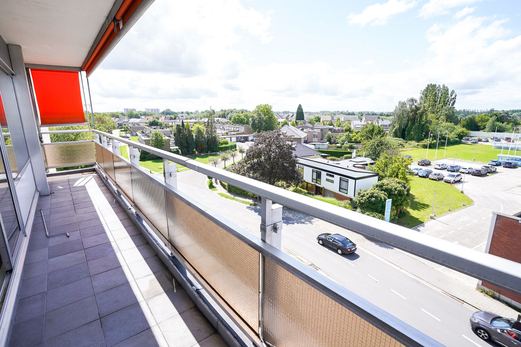
[[[436,152],[436,148],[429,148],[429,156],[427,157],[427,148],[414,148],[401,151],[400,154],[402,156],[413,156],[413,162],[418,161],[418,159],[426,158],[429,160],[435,159],[443,159],[443,158],[454,158],[456,159],[466,159],[472,160],[474,158],[474,151],[476,151],[476,161],[488,162],[491,159],[498,159],[498,154],[501,153],[501,148],[492,148],[489,145],[480,145],[480,144],[458,144],[447,146],[447,150],[445,152],[445,147],[438,147],[438,152]],[[443,154],[445,153],[445,156]]]

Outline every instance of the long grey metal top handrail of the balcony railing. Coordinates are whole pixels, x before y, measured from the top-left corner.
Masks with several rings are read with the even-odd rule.
[[[500,288],[521,294],[521,264],[519,263],[492,254],[482,253],[462,245],[456,245],[440,238],[414,232],[399,225],[384,222],[327,202],[304,197],[286,189],[226,170],[217,169],[212,165],[203,164],[187,157],[133,142],[129,139],[98,130],[94,130],[94,132],[217,178],[291,209],[352,230],[357,234],[385,242],[395,248],[420,256],[420,258],[433,261],[463,274],[497,285]]]

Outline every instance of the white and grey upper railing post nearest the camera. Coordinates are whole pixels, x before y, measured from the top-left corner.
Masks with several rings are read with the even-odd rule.
[[[282,244],[282,205],[261,200],[261,239],[280,249]]]

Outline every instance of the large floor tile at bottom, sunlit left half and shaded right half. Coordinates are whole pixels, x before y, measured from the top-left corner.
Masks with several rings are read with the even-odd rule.
[[[171,346],[191,347],[215,333],[214,327],[194,307],[159,324],[163,336]]]

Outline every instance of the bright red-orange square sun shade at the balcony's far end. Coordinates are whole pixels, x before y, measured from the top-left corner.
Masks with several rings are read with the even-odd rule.
[[[31,69],[41,125],[85,123],[77,71]]]

